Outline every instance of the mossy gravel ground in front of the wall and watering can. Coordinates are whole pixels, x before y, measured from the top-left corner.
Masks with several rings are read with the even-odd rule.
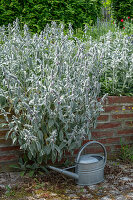
[[[108,162],[104,182],[92,186],[52,171],[34,178],[1,173],[0,200],[133,200],[133,164]]]

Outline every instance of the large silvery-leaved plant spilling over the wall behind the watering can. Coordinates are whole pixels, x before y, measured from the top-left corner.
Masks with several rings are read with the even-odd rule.
[[[84,43],[64,27],[52,23],[31,36],[18,22],[1,28],[0,95],[14,111],[9,122],[13,143],[38,162],[62,158],[65,150],[81,145],[102,109],[99,76],[102,65],[97,46],[86,52]]]

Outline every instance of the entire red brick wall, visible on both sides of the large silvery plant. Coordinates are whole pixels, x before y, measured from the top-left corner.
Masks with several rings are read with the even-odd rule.
[[[110,155],[120,149],[120,138],[133,144],[133,97],[108,97],[104,110],[92,131],[92,139],[103,143]],[[0,115],[0,123],[3,121]],[[10,139],[5,140],[7,130],[0,129],[0,171],[10,169],[10,164],[16,163],[20,153],[19,147],[13,146]]]

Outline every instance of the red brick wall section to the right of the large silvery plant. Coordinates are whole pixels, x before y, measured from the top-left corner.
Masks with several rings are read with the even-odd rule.
[[[121,138],[133,144],[133,97],[108,97],[92,138],[104,144],[108,154],[119,151]]]

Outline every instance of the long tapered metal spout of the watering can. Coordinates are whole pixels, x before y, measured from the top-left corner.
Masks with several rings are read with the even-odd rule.
[[[56,172],[59,172],[59,173],[61,173],[61,174],[64,174],[64,175],[66,175],[66,176],[69,176],[69,177],[71,177],[71,178],[77,179],[77,180],[78,180],[78,178],[79,178],[78,174],[73,173],[73,172],[69,172],[69,171],[64,170],[64,169],[59,169],[59,168],[53,167],[53,166],[48,166],[48,168],[49,168],[49,169],[52,169],[52,170],[54,170],[54,171],[56,171]]]

